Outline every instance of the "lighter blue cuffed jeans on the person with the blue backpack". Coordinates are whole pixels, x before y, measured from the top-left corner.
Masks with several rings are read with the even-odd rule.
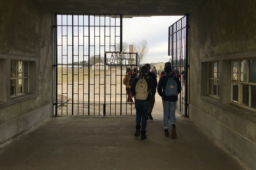
[[[168,129],[168,120],[170,116],[171,125],[176,125],[176,118],[175,118],[175,110],[176,110],[176,102],[168,102],[165,100],[162,100],[163,103],[163,109],[164,109],[164,128]]]

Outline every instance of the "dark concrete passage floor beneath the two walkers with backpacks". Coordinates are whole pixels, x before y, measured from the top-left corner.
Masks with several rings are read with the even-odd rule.
[[[246,169],[182,114],[177,138],[164,136],[161,102],[135,133],[135,116],[53,117],[0,149],[0,169]]]

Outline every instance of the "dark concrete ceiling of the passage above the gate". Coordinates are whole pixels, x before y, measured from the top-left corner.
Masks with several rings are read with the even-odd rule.
[[[123,14],[135,16],[184,15],[202,0],[34,0],[60,14]]]

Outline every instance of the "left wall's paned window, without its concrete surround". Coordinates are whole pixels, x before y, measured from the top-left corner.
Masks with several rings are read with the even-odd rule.
[[[29,61],[11,60],[11,97],[29,93]]]

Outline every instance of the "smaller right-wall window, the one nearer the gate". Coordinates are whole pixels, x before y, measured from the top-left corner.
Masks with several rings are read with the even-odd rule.
[[[220,92],[220,69],[219,61],[208,62],[207,65],[208,78],[207,78],[207,94],[219,98]]]

